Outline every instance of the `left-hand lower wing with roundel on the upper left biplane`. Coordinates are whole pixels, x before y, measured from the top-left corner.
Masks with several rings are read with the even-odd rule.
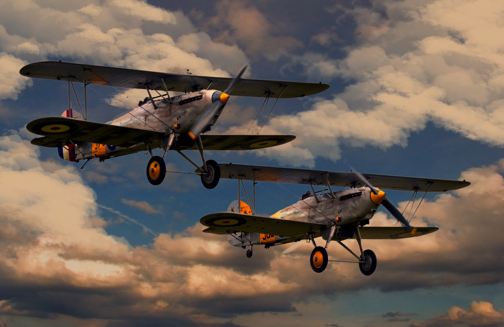
[[[39,118],[29,122],[26,129],[33,134],[45,136],[33,139],[32,144],[46,147],[57,147],[68,140],[131,147],[157,140],[164,135],[164,132],[66,117]]]

